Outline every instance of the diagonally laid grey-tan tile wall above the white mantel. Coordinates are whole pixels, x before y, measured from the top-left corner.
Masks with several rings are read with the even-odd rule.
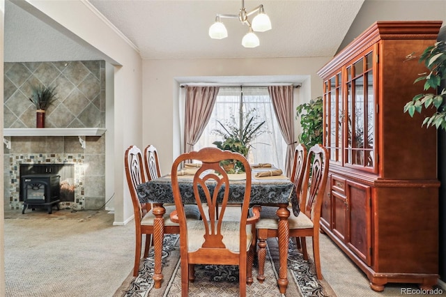
[[[4,128],[36,128],[31,86],[56,86],[46,128],[105,127],[105,61],[5,63]]]

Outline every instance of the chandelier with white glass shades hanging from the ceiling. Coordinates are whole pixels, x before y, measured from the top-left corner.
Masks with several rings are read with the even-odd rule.
[[[251,23],[249,22],[248,17],[254,13],[258,14],[252,19]],[[238,19],[240,22],[248,26],[248,33],[246,33],[242,39],[242,45],[244,47],[258,47],[260,45],[260,40],[254,31],[264,32],[271,29],[271,21],[263,10],[263,5],[261,4],[247,13],[245,9],[245,0],[242,0],[242,8],[240,8],[238,15],[217,14],[215,17],[215,23],[209,27],[210,38],[223,39],[228,37],[228,31],[226,30],[224,24],[220,21],[220,18]]]

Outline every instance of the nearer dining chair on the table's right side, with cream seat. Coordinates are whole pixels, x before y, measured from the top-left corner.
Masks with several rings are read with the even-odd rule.
[[[289,216],[289,236],[295,237],[296,242],[300,238],[302,252],[306,252],[306,236],[311,236],[313,240],[313,257],[316,266],[318,280],[322,279],[321,257],[319,255],[319,218],[321,218],[322,200],[325,185],[328,178],[328,151],[321,144],[316,144],[309,149],[307,161],[305,162],[305,174],[302,181],[302,199],[300,199],[300,211],[296,212],[296,199],[292,200],[293,210]],[[263,210],[262,210],[263,211]],[[259,282],[265,280],[263,275],[266,257],[266,239],[277,237],[278,232],[277,216],[261,217],[256,223],[259,250]]]

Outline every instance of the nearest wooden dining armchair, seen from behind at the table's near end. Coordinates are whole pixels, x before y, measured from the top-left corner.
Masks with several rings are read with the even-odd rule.
[[[203,218],[201,221],[187,221],[185,217],[177,172],[186,160],[202,163],[190,183]],[[229,189],[233,181],[220,165],[223,160],[238,160],[246,169],[245,180],[238,181],[245,186],[245,192],[241,213],[236,219],[226,218],[230,213],[226,206],[229,206]],[[206,147],[183,153],[174,161],[171,183],[177,213],[171,214],[171,220],[180,224],[181,296],[188,295],[189,282],[194,282],[194,264],[238,265],[240,296],[246,296],[247,279],[252,280],[255,223],[260,215],[259,206],[252,208],[252,216],[248,215],[251,180],[249,162],[240,153]],[[218,216],[217,208],[220,210]]]

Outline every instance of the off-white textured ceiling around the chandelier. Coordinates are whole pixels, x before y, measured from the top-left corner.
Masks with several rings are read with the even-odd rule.
[[[237,19],[223,19],[227,38],[208,36],[215,15],[237,15],[241,0],[90,0],[139,48],[143,59],[333,56],[363,2],[247,0],[247,12],[263,4],[272,22],[272,30],[257,33],[260,46],[247,49],[241,45],[247,26]]]

